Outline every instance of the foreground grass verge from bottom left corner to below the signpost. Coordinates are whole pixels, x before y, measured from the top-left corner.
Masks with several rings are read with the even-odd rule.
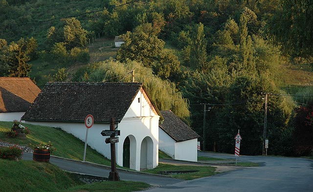
[[[5,192],[132,192],[150,187],[132,181],[85,184],[50,163],[3,159],[0,159],[0,186]]]

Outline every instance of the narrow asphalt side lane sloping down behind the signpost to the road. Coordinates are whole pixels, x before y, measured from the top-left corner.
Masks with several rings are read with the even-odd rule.
[[[23,160],[32,160],[33,154],[26,153],[23,154]],[[59,168],[71,172],[78,172],[83,174],[91,174],[96,176],[108,177],[111,171],[111,168],[106,168],[104,166],[97,166],[88,163],[82,163],[78,161],[71,161],[62,158],[55,158],[51,157],[50,161],[51,164],[58,166]],[[181,182],[183,180],[174,179],[171,177],[165,176],[157,176],[152,174],[140,174],[133,172],[126,172],[118,170],[118,175],[121,180],[128,180],[128,181],[140,181],[145,182],[150,185],[155,186],[163,186]]]

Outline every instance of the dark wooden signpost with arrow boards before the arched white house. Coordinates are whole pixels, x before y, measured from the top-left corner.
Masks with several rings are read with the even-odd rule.
[[[115,158],[115,143],[118,143],[118,136],[120,135],[119,130],[115,130],[114,118],[110,120],[110,130],[103,130],[101,132],[102,136],[110,136],[106,138],[106,144],[111,143],[111,172],[109,175],[110,181],[119,181],[118,172],[116,171],[116,158]]]

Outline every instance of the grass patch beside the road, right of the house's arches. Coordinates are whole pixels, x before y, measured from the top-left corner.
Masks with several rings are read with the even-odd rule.
[[[158,172],[162,170],[199,170],[198,172],[169,175],[171,177],[183,180],[192,180],[217,174],[217,172],[215,172],[216,168],[210,166],[179,166],[164,163],[159,163],[156,168],[144,170],[143,172],[158,174]]]

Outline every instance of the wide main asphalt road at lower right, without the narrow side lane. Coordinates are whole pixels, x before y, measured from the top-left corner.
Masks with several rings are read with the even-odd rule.
[[[235,159],[229,154],[201,153],[201,156]],[[238,160],[262,166],[236,169],[145,192],[313,192],[311,160],[264,156],[240,156]]]

